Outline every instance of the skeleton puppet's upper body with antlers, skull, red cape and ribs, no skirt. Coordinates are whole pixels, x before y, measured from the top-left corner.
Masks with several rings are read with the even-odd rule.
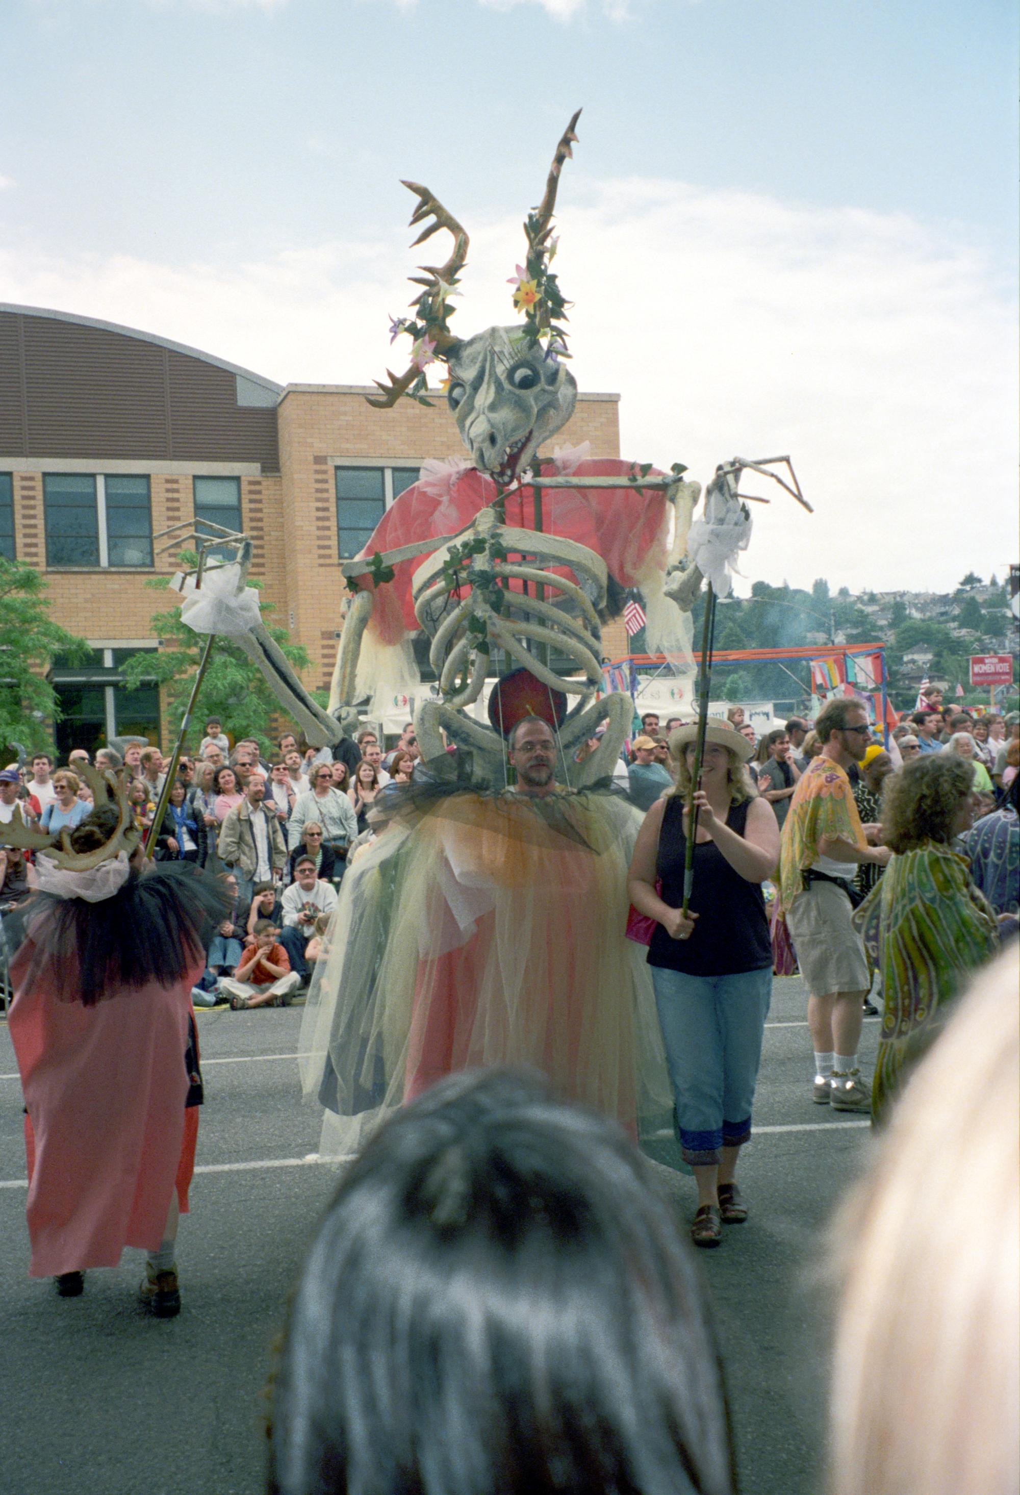
[[[513,295],[523,324],[489,327],[467,339],[450,332],[449,300],[468,236],[428,188],[405,182],[419,199],[411,223],[425,224],[416,244],[443,229],[453,248],[443,266],[423,266],[416,278],[422,292],[411,303],[414,317],[392,324],[393,336],[413,338],[410,366],[380,383],[381,396],[369,402],[386,408],[410,396],[428,404],[425,369],[443,360],[446,398],[471,460],[426,462],[419,483],[396,499],[365,547],[372,570],[363,562],[342,568],[354,595],[331,710],[369,692],[378,701],[395,691],[420,698],[408,646],[423,629],[432,640],[440,691],[438,701],[417,710],[423,756],[441,752],[446,733],[471,750],[477,785],[506,783],[504,739],[514,719],[509,695],[501,694],[500,730],[465,715],[482,694],[494,650],[528,673],[531,692],[525,688],[519,698],[529,698],[532,709],[549,715],[553,703],[573,698],[556,725],[561,774],[574,786],[612,771],[630,727],[627,697],[595,700],[603,685],[600,625],[621,611],[627,588],[645,594],[649,644],[664,649],[678,673],[691,670],[688,619],[678,599],[689,608],[701,576],[676,564],[669,573],[670,561],[683,553],[698,486],[682,481],[679,465],[669,478],[645,468],[643,486],[634,486],[639,474],[631,463],[591,460],[586,447],[556,450],[552,460],[537,457],[577,401],[565,365],[565,302],[550,271],[552,212],[576,123],[577,115],[559,141],[543,200],[525,223],[528,247]],[[550,665],[552,655],[570,661],[567,673]],[[576,764],[577,749],[606,718],[598,750]]]

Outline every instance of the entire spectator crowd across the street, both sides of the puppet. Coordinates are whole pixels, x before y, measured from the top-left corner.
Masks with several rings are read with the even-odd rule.
[[[754,750],[748,764],[751,782],[772,804],[782,830],[797,785],[824,745],[802,716],[776,724],[760,739],[740,706],[730,707],[727,719]],[[670,759],[669,737],[679,725],[679,716],[661,724],[657,712],[646,712],[640,730],[636,722],[628,752],[616,764],[616,786],[640,810],[651,809],[673,788],[676,765]],[[600,734],[579,756],[598,746]],[[266,752],[265,745],[251,737],[232,745],[224,724],[209,718],[197,752],[182,753],[178,762],[169,803],[156,828],[153,819],[170,759],[142,740],[121,740],[120,746],[123,752],[114,746],[100,748],[96,767],[127,776],[136,824],[145,836],[154,836],[156,860],[188,861],[230,878],[235,918],[230,931],[221,930],[209,949],[196,1000],[211,1003],[229,994],[236,1006],[247,1005],[247,991],[233,991],[223,982],[236,979],[241,957],[257,942],[253,910],[262,907],[266,888],[275,890],[268,916],[275,921],[287,975],[298,978],[296,984],[287,984],[286,993],[274,991],[271,1000],[287,1000],[293,987],[308,979],[305,951],[314,937],[316,919],[328,912],[328,896],[335,898],[348,858],[374,834],[372,812],[380,795],[386,795],[390,783],[408,783],[414,774],[420,753],[413,724],[404,725],[389,750],[374,728],[363,727],[354,737],[344,736],[334,749],[313,749],[295,733],[283,733],[275,749]],[[989,876],[1002,882],[999,852],[1014,813],[1008,789],[1020,765],[1017,713],[978,716],[956,707],[924,707],[911,713],[893,731],[890,752],[873,743],[860,765],[850,765],[861,822],[878,819],[881,783],[887,774],[933,753],[950,753],[971,765],[977,816],[998,816],[995,827],[986,827],[975,839],[975,846],[980,852],[993,848],[995,855],[984,861],[993,867]],[[43,830],[73,828],[91,806],[88,785],[75,771],[81,762],[88,762],[88,753],[76,748],[66,765],[57,767],[49,753],[37,752],[21,765],[0,770],[0,824],[10,819],[19,803],[25,819]],[[305,872],[299,876],[302,863]],[[7,851],[3,872],[0,901],[12,906],[31,885],[30,858]],[[860,866],[854,887],[864,894],[876,881],[876,867]],[[310,897],[298,897],[302,885]],[[290,898],[284,904],[287,891]],[[266,970],[259,967],[256,973]],[[278,978],[254,985],[275,987]]]

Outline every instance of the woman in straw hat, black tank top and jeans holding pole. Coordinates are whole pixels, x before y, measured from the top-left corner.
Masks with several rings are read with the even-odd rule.
[[[734,1183],[751,1136],[751,1103],[772,999],[772,943],[761,882],[779,860],[779,827],[745,764],[751,743],[709,718],[694,794],[694,884],[688,913],[683,864],[697,722],[670,736],[676,788],[645,816],[630,869],[630,897],[657,921],[649,945],[655,1002],[673,1081],[683,1160],[694,1169],[695,1245],[721,1241],[721,1223],[748,1211]],[[661,891],[657,891],[657,882]]]

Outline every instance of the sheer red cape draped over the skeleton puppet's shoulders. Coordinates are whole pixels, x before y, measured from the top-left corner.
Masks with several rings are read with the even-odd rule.
[[[556,477],[555,462],[540,465],[541,477]],[[631,462],[619,457],[579,462],[570,477],[630,477]],[[649,475],[658,477],[654,468]],[[446,490],[435,480],[417,481],[405,489],[380,519],[365,556],[377,550],[396,550],[420,540],[455,535],[497,496],[491,477],[477,468],[452,472]],[[507,498],[506,523],[516,529],[535,528],[535,489],[523,487]],[[546,487],[541,489],[541,528],[586,546],[601,556],[609,574],[621,586],[636,586],[649,564],[666,567],[666,493],[663,489],[637,487]],[[401,561],[395,579],[375,592],[369,629],[383,644],[396,644],[417,629],[411,601],[411,579],[425,555]],[[570,573],[565,573],[567,576]],[[357,580],[371,588],[368,573]],[[519,586],[519,583],[516,583]]]

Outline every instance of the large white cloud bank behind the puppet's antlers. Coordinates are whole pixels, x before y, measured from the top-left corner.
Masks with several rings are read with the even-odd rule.
[[[582,389],[619,390],[622,453],[790,453],[815,516],[757,508],[748,580],[948,588],[1016,559],[1013,287],[948,230],[675,181],[585,188],[556,268]],[[473,220],[455,326],[511,321],[519,215]],[[401,353],[387,312],[416,263],[332,242],[242,265],[0,253],[4,298],[159,332],[281,383],[366,384]]]

